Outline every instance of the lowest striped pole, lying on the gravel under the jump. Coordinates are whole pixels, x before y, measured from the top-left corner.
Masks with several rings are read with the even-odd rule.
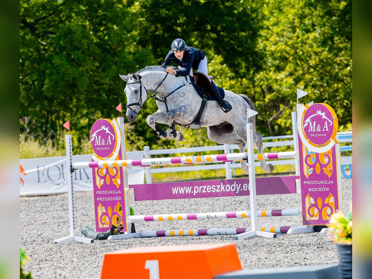
[[[262,232],[282,233],[285,234],[290,230],[302,229],[307,232],[313,232],[314,228],[310,226],[282,226],[282,227],[259,227]],[[140,231],[126,235],[110,235],[109,240],[133,238],[133,237],[162,237],[162,236],[186,236],[186,235],[236,235],[252,231],[251,227],[247,228],[213,228],[213,229],[193,229],[193,230],[156,230]],[[305,231],[304,231],[305,232]]]

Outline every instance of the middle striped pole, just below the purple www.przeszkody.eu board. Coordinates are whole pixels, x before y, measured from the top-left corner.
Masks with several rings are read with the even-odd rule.
[[[257,217],[273,216],[301,216],[300,208],[291,209],[270,209],[257,210]],[[250,218],[250,211],[234,212],[205,212],[193,214],[155,214],[155,215],[132,215],[127,218],[128,222],[149,222],[149,221],[179,221],[179,220],[206,220],[206,219],[229,219],[229,218]]]

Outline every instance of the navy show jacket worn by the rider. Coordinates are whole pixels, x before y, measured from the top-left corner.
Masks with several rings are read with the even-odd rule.
[[[186,47],[185,52],[183,52],[182,59],[179,60],[176,55],[174,55],[173,50],[170,50],[162,65],[168,66],[170,62],[173,62],[174,64],[180,66],[180,68],[176,69],[176,77],[188,76],[191,68],[198,70],[199,63],[204,59],[204,57],[204,51],[192,47]]]

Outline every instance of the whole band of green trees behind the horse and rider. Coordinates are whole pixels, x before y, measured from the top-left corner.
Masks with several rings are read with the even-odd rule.
[[[70,120],[74,152],[90,151],[90,127],[126,103],[118,74],[160,64],[175,38],[206,52],[219,86],[250,97],[264,136],[292,133],[296,88],[350,130],[351,10],[351,0],[21,0],[20,117],[33,125],[21,121],[20,134],[64,152]],[[125,124],[128,150],[214,144],[205,129],[178,127],[184,142],[160,139],[146,124],[155,110],[150,100]]]

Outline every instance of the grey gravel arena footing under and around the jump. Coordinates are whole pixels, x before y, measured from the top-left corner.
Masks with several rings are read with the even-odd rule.
[[[352,179],[342,179],[344,213],[352,202]],[[95,228],[93,192],[76,192],[76,230]],[[250,210],[249,196],[131,201],[135,215]],[[300,194],[257,196],[258,209],[301,208]],[[235,243],[243,269],[338,264],[337,248],[329,235],[318,232],[277,234],[276,238],[252,237],[234,240],[232,235],[95,240],[62,245],[53,240],[69,235],[67,193],[20,197],[20,247],[31,261],[23,266],[34,279],[99,278],[106,252],[140,246]],[[301,217],[259,217],[260,227],[302,225]],[[136,223],[141,230],[250,227],[250,218]],[[130,264],[130,263],[129,263]],[[118,270],[118,274],[121,272]],[[122,277],[122,276],[119,276]]]

